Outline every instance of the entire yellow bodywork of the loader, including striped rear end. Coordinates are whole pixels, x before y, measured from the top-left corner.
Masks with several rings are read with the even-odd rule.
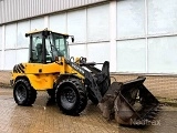
[[[62,61],[62,64],[58,63],[25,63],[17,64],[13,69],[12,80],[17,78],[25,76],[29,79],[30,84],[35,90],[48,90],[53,89],[53,84],[60,74],[72,74],[75,76],[83,78],[76,70]],[[23,65],[23,66],[22,66]],[[22,69],[23,68],[23,69]]]

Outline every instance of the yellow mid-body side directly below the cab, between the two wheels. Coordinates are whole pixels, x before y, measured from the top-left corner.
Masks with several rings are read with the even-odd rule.
[[[63,73],[63,65],[56,63],[41,64],[28,63],[25,64],[25,73],[35,90],[52,89],[54,81],[60,73]]]

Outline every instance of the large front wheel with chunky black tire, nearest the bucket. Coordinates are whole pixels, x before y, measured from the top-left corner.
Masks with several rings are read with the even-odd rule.
[[[79,79],[65,79],[56,88],[56,104],[67,115],[80,114],[87,104],[84,85]]]

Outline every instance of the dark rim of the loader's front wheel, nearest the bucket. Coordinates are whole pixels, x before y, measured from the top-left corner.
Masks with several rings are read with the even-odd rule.
[[[75,105],[76,102],[76,93],[75,91],[66,86],[61,92],[61,104],[64,109],[70,110]]]

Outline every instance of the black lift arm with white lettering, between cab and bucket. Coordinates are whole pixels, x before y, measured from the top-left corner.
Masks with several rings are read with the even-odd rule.
[[[94,66],[96,64],[94,62],[93,63],[82,62],[81,64],[77,64],[75,62],[72,62],[71,60],[66,60],[66,64],[69,64],[72,69],[74,69],[76,72],[79,72],[84,76],[84,84],[86,89],[88,90],[88,92],[93,92],[92,95],[94,95],[95,99],[97,99],[97,102],[100,102],[104,93],[108,90],[110,62],[105,61],[103,63],[102,71]],[[84,69],[83,66],[87,68],[91,72]]]

